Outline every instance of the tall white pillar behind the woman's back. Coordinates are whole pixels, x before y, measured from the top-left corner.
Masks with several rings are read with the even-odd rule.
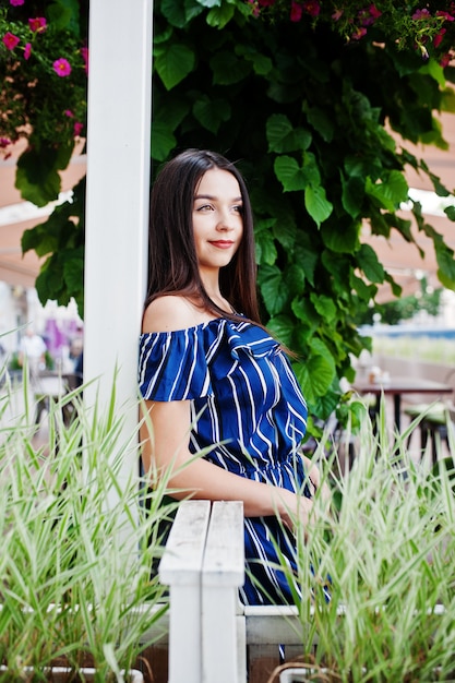
[[[153,0],[91,0],[84,392],[137,422],[137,340],[146,285]],[[130,402],[130,403],[129,403]],[[128,408],[125,405],[128,404]],[[137,467],[132,448],[124,476]],[[136,470],[134,470],[136,471]]]

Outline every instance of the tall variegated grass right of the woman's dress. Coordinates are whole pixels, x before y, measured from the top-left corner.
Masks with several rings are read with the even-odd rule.
[[[384,412],[378,431],[366,412],[344,475],[336,450],[315,454],[332,506],[316,494],[312,524],[297,523],[300,659],[343,682],[455,679],[455,440],[434,468],[416,463],[417,421],[392,440]]]

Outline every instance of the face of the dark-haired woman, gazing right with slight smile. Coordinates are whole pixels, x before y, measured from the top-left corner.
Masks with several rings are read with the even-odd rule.
[[[243,235],[243,204],[232,173],[207,170],[196,185],[193,231],[201,272],[219,271],[231,261]]]

